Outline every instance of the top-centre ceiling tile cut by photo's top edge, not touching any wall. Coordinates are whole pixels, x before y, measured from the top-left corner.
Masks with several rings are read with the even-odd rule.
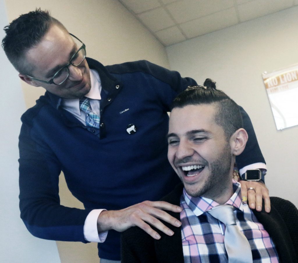
[[[185,23],[233,6],[233,0],[181,0],[166,8],[177,23]]]

